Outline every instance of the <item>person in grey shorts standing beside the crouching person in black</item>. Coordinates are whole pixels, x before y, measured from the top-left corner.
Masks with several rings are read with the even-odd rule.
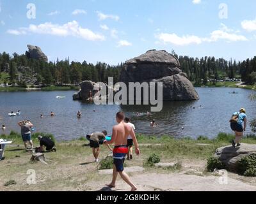
[[[26,149],[33,149],[33,142],[31,140],[31,128],[33,128],[33,124],[29,120],[23,120],[18,122],[20,126],[20,133],[22,136],[22,140],[24,142],[24,146]],[[28,148],[27,143],[29,142],[30,148]]]

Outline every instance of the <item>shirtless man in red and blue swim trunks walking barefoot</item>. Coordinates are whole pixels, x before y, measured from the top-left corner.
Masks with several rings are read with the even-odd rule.
[[[134,130],[124,122],[125,115],[123,112],[116,113],[116,122],[118,123],[116,126],[113,127],[112,137],[110,141],[104,141],[104,143],[112,144],[115,143],[115,148],[113,149],[113,178],[112,182],[106,186],[114,188],[116,187],[116,178],[118,173],[124,179],[124,181],[131,186],[131,191],[136,191],[138,188],[134,186],[131,182],[130,177],[127,173],[124,172],[124,161],[125,157],[128,153],[127,147],[127,137],[131,135],[134,145],[136,147],[136,154],[140,154],[140,149],[138,146],[138,141],[136,139]]]

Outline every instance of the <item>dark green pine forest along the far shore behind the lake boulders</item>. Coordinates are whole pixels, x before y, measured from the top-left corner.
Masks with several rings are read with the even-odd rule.
[[[218,80],[227,78],[239,78],[246,84],[256,82],[256,57],[246,59],[246,61],[229,61],[215,57],[193,58],[188,56],[178,56],[172,51],[180,61],[182,71],[184,71],[191,82],[195,85],[207,85],[208,82],[216,84]],[[8,78],[2,82],[25,86],[26,83],[42,85],[79,84],[83,80],[93,82],[108,82],[108,77],[113,77],[114,82],[118,82],[120,71],[124,64],[120,63],[111,66],[104,62],[96,64],[81,62],[70,62],[69,59],[57,59],[56,62],[44,62],[29,59],[26,54],[12,56],[3,52],[0,54],[0,80],[1,73],[8,73]],[[31,80],[33,78],[33,80]],[[31,82],[29,81],[31,80]]]

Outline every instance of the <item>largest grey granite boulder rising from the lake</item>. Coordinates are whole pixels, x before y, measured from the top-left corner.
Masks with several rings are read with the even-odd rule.
[[[180,70],[179,60],[164,50],[149,50],[125,62],[120,82],[163,82],[163,101],[199,99],[186,73]]]

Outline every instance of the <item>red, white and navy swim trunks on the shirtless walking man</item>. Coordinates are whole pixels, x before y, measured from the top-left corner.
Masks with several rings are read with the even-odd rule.
[[[114,164],[116,166],[117,172],[124,171],[124,161],[127,153],[128,153],[127,145],[118,146],[113,149],[113,159],[114,159]]]

